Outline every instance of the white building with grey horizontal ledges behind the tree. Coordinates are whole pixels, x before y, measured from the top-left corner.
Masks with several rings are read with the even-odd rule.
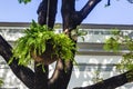
[[[59,24],[60,26],[60,24]],[[0,34],[13,46],[13,42],[22,37],[23,29],[29,28],[29,23],[22,22],[1,22]],[[121,52],[113,53],[103,50],[103,43],[111,34],[111,29],[120,29],[129,33],[133,38],[133,26],[122,24],[82,24],[80,30],[88,31],[84,36],[84,41],[81,37],[78,38],[79,52],[75,60],[79,66],[74,67],[72,77],[69,83],[69,89],[73,87],[86,86],[96,82],[99,79],[106,79],[119,75],[115,65],[122,59]],[[62,30],[57,30],[61,32]],[[123,49],[124,52],[126,49]],[[50,66],[50,71],[54,70],[54,65]],[[1,88],[28,89],[12,73],[8,65],[0,57],[0,79],[3,79]],[[124,85],[116,89],[132,89],[132,83]]]

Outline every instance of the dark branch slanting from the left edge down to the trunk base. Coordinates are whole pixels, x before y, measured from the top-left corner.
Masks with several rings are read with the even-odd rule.
[[[11,46],[0,36],[0,55],[8,62],[12,57]],[[30,89],[33,89],[34,72],[23,66],[18,66],[18,60],[9,65],[13,73]]]

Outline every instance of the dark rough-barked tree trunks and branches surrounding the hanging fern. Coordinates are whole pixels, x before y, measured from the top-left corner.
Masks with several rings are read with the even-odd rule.
[[[75,0],[62,0],[61,13],[63,18],[63,31],[71,38],[71,30],[75,29],[100,1],[101,0],[89,0],[80,11],[75,11]],[[48,0],[42,0],[38,9],[38,22],[40,24],[48,24],[50,28],[53,28],[57,4],[58,0],[50,0],[48,13]],[[49,18],[47,18],[47,14],[49,14]],[[76,40],[74,41],[76,42]],[[11,49],[11,46],[0,36],[0,55],[7,62],[12,57]],[[59,59],[50,79],[48,78],[49,66],[44,66],[45,72],[43,72],[41,66],[37,67],[37,63],[38,62],[34,62],[34,72],[28,67],[18,66],[17,60],[13,60],[10,68],[29,89],[66,89],[72,73],[72,61]],[[129,80],[132,81],[132,79],[127,78],[127,75],[132,73],[133,71],[127,71],[103,80],[102,82],[74,89],[113,89],[129,82]]]

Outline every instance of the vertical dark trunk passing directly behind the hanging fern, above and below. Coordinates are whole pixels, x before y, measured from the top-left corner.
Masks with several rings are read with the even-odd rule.
[[[57,6],[58,0],[42,0],[38,8],[38,22],[40,24],[47,24],[50,28],[53,28],[57,14]],[[42,66],[37,66],[35,62],[34,71],[34,89],[50,89],[48,86],[48,77],[49,77],[49,66],[44,66],[44,70],[42,70]]]

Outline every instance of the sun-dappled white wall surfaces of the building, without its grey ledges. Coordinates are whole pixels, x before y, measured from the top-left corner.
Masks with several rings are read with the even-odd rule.
[[[8,40],[10,43],[11,41],[16,41],[19,37],[22,36],[20,28],[18,27],[8,27],[1,28],[0,34]],[[23,28],[21,28],[23,29]],[[106,39],[106,36],[85,36],[85,42],[103,42],[103,39]],[[79,41],[82,41],[79,38]],[[81,50],[88,50],[85,48],[80,48]],[[93,49],[93,48],[91,48]],[[101,48],[100,48],[101,49]],[[95,51],[95,49],[93,50]],[[71,81],[69,83],[69,89],[80,86],[93,85],[95,82],[96,73],[99,71],[100,79],[106,79],[112,76],[119,75],[114,65],[122,59],[121,56],[99,56],[99,55],[76,55],[75,60],[79,66],[74,66]],[[50,72],[52,73],[54,70],[54,65],[50,66]],[[12,73],[9,67],[6,65],[4,60],[0,57],[0,78],[3,79],[4,85],[2,88],[19,88],[19,89],[27,89],[27,87]],[[132,83],[124,85],[117,89],[133,89]]]

